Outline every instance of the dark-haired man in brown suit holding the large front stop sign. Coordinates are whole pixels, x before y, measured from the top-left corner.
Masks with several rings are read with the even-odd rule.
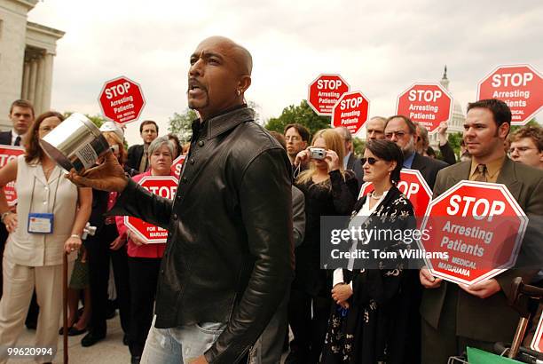
[[[543,171],[507,157],[503,145],[510,123],[511,111],[498,99],[469,104],[464,141],[472,160],[441,170],[434,198],[465,179],[507,186],[530,218],[518,263],[528,257],[528,250],[540,244],[540,230],[534,225],[540,225],[543,212]],[[426,289],[421,303],[422,363],[445,363],[448,357],[464,352],[466,346],[492,351],[495,342],[510,342],[520,318],[508,305],[511,282],[516,276],[529,282],[537,272],[531,267],[508,270],[469,287],[437,279],[423,267],[420,280]]]

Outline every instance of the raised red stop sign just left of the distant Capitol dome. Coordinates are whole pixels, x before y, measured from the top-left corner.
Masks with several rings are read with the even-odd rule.
[[[396,114],[420,123],[432,134],[451,118],[453,97],[439,83],[413,83],[397,97]]]

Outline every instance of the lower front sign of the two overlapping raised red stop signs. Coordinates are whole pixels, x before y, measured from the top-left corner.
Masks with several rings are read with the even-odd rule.
[[[360,91],[344,93],[332,113],[332,127],[345,126],[355,135],[362,129],[369,115],[369,100]]]

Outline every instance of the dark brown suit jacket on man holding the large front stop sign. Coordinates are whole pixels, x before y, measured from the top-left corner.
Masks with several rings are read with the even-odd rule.
[[[441,170],[437,174],[434,188],[434,198],[443,194],[448,188],[461,180],[469,178],[471,162],[460,162]],[[524,164],[513,162],[506,157],[498,176],[497,183],[508,187],[516,202],[528,215],[531,222],[540,223],[543,214],[543,171],[536,170]],[[531,223],[530,223],[531,224]],[[530,225],[529,225],[530,226]],[[533,226],[529,228],[534,228]],[[540,244],[540,226],[539,244]],[[523,246],[517,262],[526,254],[529,231],[524,235]],[[533,241],[533,240],[532,240]],[[529,242],[532,242],[529,241]],[[536,242],[537,241],[533,241]],[[454,283],[443,281],[437,289],[424,289],[421,303],[422,317],[434,328],[437,328],[441,311],[445,302],[447,289],[458,289],[458,304],[456,309],[456,335],[466,336],[488,342],[510,342],[520,315],[508,305],[508,297],[512,296],[511,282],[516,276],[522,276],[526,282],[537,270],[511,269],[498,275],[500,292],[481,299],[472,296],[464,290],[454,287]],[[447,296],[450,297],[450,296]]]

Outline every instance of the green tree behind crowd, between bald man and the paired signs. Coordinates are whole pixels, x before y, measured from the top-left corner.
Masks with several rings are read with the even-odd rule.
[[[272,117],[264,126],[269,131],[282,133],[289,123],[302,124],[310,131],[311,135],[321,129],[330,128],[330,118],[317,115],[304,99],[297,107],[294,105],[285,107],[279,117]]]

